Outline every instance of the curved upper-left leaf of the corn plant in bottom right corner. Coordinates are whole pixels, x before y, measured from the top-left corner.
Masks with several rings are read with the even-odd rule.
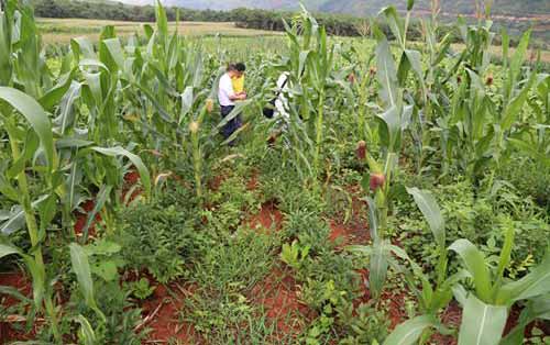
[[[485,256],[470,241],[457,240],[449,249],[460,255],[466,269],[472,275],[477,297],[483,301],[491,301],[491,275],[485,263]]]

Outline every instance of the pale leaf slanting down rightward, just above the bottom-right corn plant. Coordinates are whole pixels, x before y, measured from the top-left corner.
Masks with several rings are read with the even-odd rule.
[[[441,210],[433,194],[418,188],[407,188],[407,192],[415,198],[415,202],[430,225],[433,237],[440,247],[446,246],[446,224]]]

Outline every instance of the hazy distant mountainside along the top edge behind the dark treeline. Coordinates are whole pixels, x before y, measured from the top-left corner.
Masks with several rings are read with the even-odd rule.
[[[127,3],[145,4],[153,0],[122,0]],[[237,8],[256,8],[266,10],[296,10],[298,0],[162,0],[167,5],[197,10],[232,10]],[[310,11],[348,13],[354,15],[372,15],[380,9],[395,4],[403,9],[406,0],[304,0]],[[415,9],[426,11],[430,9],[431,0],[417,0]],[[441,10],[447,13],[473,13],[475,0],[440,0]],[[482,2],[482,1],[480,1]],[[510,16],[525,14],[549,14],[550,0],[494,0],[493,12]]]

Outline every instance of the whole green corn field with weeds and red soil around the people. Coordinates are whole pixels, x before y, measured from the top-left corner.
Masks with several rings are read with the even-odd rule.
[[[8,0],[0,343],[548,344],[548,66],[490,4],[461,51],[437,1],[408,41],[413,9],[359,40],[306,9],[282,37],[197,40],[157,3],[51,48]],[[250,97],[222,119],[237,60]]]

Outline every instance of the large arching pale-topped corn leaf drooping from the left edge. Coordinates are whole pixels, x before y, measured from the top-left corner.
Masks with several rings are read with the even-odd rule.
[[[10,103],[31,123],[40,137],[41,146],[52,168],[54,164],[54,137],[52,124],[44,109],[32,97],[13,88],[0,87],[0,100]]]

